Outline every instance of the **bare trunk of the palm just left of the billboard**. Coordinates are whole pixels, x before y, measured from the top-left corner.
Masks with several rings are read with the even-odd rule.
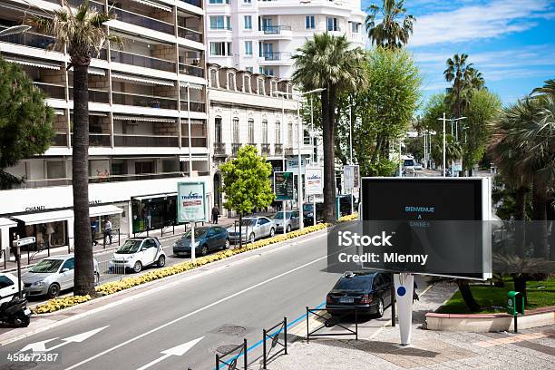
[[[335,110],[332,99],[332,91],[328,89],[321,93],[322,98],[322,122],[324,123],[324,219],[326,222],[336,221],[336,176],[335,176],[335,146],[334,146],[334,122],[331,111]]]

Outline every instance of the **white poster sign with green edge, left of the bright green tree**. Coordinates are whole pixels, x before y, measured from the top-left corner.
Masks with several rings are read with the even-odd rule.
[[[206,220],[206,191],[204,182],[178,184],[178,219],[180,222]]]

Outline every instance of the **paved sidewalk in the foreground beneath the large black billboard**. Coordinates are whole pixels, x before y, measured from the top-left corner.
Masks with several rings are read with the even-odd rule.
[[[425,330],[425,313],[441,306],[453,290],[454,287],[447,284],[436,285],[421,297],[420,302],[415,302],[411,346],[398,345],[399,328],[392,327],[390,320],[385,319],[383,327],[373,330],[372,335],[369,335],[371,331],[365,332],[365,328],[359,326],[358,341],[311,338],[307,344],[306,334],[301,335],[287,348],[288,355],[277,357],[268,369],[555,368],[555,326],[522,330],[518,334]]]

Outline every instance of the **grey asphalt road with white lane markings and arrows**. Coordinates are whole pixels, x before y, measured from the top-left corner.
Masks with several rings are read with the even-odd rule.
[[[326,233],[319,233],[297,245],[245,259],[3,346],[0,361],[5,364],[8,353],[24,346],[57,338],[45,347],[57,346],[51,353],[60,354],[58,362],[35,368],[213,368],[219,347],[240,344],[243,337],[249,346],[255,344],[263,327],[273,326],[283,316],[291,321],[302,316],[305,307],[321,304],[337,279],[324,272],[325,268]],[[83,342],[63,341],[96,329],[101,331]],[[164,352],[198,338],[185,355],[176,355],[183,348]],[[260,351],[256,348],[249,358],[254,360]]]

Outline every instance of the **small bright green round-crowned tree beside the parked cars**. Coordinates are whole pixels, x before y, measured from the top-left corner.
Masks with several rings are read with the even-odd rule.
[[[258,155],[257,148],[246,145],[239,148],[237,158],[219,166],[223,177],[222,191],[226,194],[224,207],[239,213],[239,243],[242,242],[243,214],[254,208],[266,208],[274,200],[269,180],[272,166],[266,157]]]

